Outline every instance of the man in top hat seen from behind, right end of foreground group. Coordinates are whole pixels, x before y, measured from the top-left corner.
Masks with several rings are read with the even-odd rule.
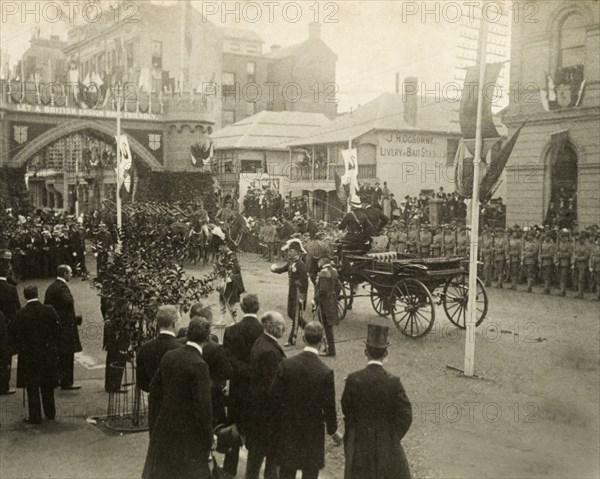
[[[410,428],[412,407],[400,378],[383,368],[388,330],[368,325],[367,367],[346,379],[342,394],[345,479],[410,477],[400,441]]]

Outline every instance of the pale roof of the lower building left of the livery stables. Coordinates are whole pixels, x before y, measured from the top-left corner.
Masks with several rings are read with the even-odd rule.
[[[261,111],[212,135],[215,148],[286,150],[290,141],[311,135],[329,123],[321,113]]]

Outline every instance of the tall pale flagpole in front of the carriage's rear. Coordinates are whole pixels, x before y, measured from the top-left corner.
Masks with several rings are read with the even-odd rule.
[[[487,22],[483,18],[484,2],[480,16],[479,84],[477,86],[477,129],[475,133],[475,157],[473,158],[473,195],[471,200],[471,251],[469,255],[469,297],[465,335],[465,376],[475,373],[475,325],[477,323],[477,257],[479,250],[479,164],[482,150],[481,123],[483,117],[483,88],[487,49]]]

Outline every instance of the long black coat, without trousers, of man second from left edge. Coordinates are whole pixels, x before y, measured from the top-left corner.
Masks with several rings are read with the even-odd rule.
[[[54,308],[27,303],[14,319],[18,363],[17,387],[58,386],[60,326]]]

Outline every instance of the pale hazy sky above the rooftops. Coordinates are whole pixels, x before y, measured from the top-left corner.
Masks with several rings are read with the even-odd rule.
[[[80,8],[86,1],[73,3]],[[25,22],[18,14],[7,14],[10,11],[7,4],[19,8],[23,3],[31,9],[35,8],[32,4],[39,4],[41,13],[46,8],[51,15],[48,4],[53,2],[0,0],[3,12],[1,47],[3,53],[10,54],[12,64],[27,49],[33,28],[39,27],[42,36],[49,36],[64,35],[69,26],[66,13],[62,16],[65,22],[57,23],[45,21],[43,14],[39,21],[30,14]],[[114,2],[101,1],[105,15],[112,14],[109,10],[111,3]],[[446,3],[459,5],[463,12],[468,12],[468,7],[462,2]],[[448,8],[450,5],[444,2],[284,0],[192,1],[192,4],[200,11],[204,9],[209,21],[215,25],[254,30],[264,40],[265,52],[273,44],[285,47],[304,41],[308,35],[308,24],[318,21],[322,25],[322,39],[338,55],[338,111],[356,108],[382,92],[394,91],[396,72],[401,79],[417,76],[429,90],[435,88],[436,82],[443,85],[453,79],[453,66],[456,64],[454,46],[459,23],[454,21],[455,10]],[[224,15],[225,12],[230,13]]]

